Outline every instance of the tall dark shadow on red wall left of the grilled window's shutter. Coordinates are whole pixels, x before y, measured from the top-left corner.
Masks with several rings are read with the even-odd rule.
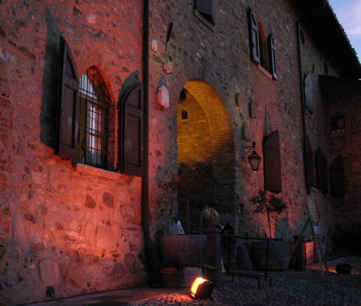
[[[59,80],[59,50],[61,32],[49,8],[45,9],[47,25],[43,69],[42,110],[40,112],[40,141],[48,147],[56,145],[57,96]]]

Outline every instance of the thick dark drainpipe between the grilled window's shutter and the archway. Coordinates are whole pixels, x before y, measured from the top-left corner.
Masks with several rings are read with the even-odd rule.
[[[143,0],[143,101],[144,101],[144,172],[142,178],[142,228],[148,283],[153,285],[153,249],[149,223],[149,0]]]

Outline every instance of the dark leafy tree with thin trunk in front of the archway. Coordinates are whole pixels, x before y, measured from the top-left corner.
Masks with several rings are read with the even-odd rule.
[[[169,181],[161,181],[158,187],[162,190],[162,195],[158,201],[177,201],[177,195],[186,197],[186,227],[190,232],[189,203],[190,197],[201,195],[213,195],[216,181],[213,177],[212,163],[195,162],[187,165],[181,164],[178,173],[174,174]]]

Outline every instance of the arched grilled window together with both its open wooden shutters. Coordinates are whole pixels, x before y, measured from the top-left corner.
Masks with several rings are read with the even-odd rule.
[[[73,162],[143,176],[143,85],[137,82],[129,86],[120,101],[116,139],[117,113],[110,105],[109,90],[100,70],[91,66],[79,80],[75,61],[63,37],[60,60],[55,153]]]

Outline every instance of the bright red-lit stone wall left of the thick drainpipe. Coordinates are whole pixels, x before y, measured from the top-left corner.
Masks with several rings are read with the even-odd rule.
[[[79,77],[103,74],[117,155],[118,95],[142,75],[142,1],[4,0],[0,16],[0,304],[145,284],[141,178],[53,151],[63,35]]]

